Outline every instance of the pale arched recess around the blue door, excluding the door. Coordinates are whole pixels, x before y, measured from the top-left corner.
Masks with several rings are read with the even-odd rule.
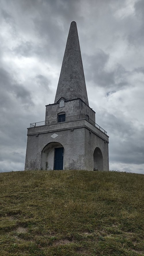
[[[59,142],[50,142],[41,151],[41,170],[54,170],[55,148],[63,148]],[[63,169],[65,149],[63,151]]]

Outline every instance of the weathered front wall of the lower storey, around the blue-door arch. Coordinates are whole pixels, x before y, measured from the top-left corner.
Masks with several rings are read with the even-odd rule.
[[[84,128],[57,131],[55,139],[51,137],[53,133],[28,136],[25,169],[41,169],[41,151],[50,142],[61,143],[64,147],[65,169],[84,169]]]

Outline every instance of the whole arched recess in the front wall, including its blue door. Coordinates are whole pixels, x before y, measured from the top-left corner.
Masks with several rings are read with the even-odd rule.
[[[59,142],[48,143],[41,151],[41,170],[63,170],[65,149]]]

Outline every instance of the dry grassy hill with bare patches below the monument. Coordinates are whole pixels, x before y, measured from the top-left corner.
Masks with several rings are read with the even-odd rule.
[[[0,255],[144,255],[144,175],[0,173]]]

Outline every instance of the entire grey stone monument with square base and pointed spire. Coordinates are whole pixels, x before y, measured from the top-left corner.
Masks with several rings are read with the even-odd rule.
[[[30,124],[25,170],[109,170],[109,136],[89,107],[76,22],[71,22],[56,97]]]

